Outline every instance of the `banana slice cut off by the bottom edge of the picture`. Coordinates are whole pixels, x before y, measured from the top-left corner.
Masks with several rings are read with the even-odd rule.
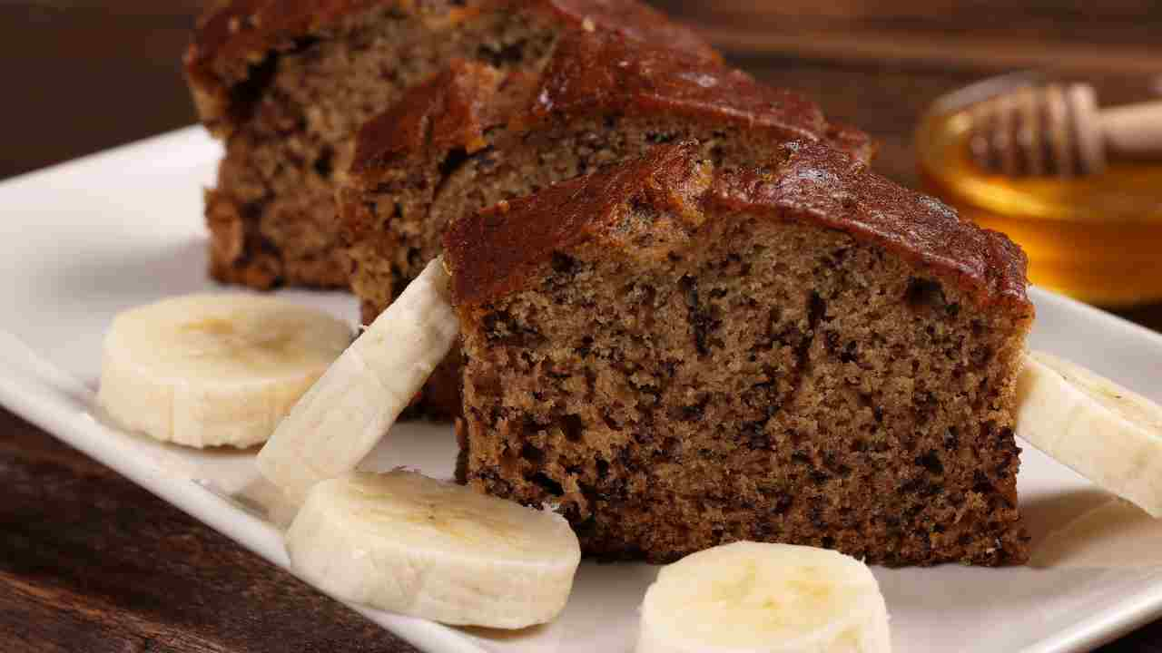
[[[661,569],[637,653],[882,653],[888,609],[866,565],[810,546],[739,541]]]

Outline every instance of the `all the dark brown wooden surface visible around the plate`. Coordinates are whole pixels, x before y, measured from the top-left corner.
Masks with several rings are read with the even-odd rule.
[[[0,2],[0,178],[193,122],[178,58],[200,3]],[[964,84],[1055,66],[1162,85],[1153,0],[658,3],[866,128],[905,184],[917,117]],[[1124,315],[1162,330],[1162,307]],[[0,652],[414,651],[2,409],[0,487]],[[1100,651],[1162,652],[1162,620]]]

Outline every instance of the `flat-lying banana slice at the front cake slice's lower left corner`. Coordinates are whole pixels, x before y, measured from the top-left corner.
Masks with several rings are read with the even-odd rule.
[[[406,471],[316,485],[287,550],[299,574],[340,598],[497,629],[555,617],[581,561],[560,515]]]

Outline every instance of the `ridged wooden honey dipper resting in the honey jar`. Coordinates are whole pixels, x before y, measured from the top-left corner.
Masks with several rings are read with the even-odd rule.
[[[1162,158],[1162,100],[1098,109],[1088,84],[1028,87],[978,102],[969,145],[1010,177],[1097,174],[1113,158]]]

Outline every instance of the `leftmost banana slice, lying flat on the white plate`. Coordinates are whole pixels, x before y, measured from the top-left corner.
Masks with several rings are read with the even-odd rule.
[[[349,344],[347,324],[273,297],[173,297],[114,318],[98,402],[159,440],[253,446]]]

